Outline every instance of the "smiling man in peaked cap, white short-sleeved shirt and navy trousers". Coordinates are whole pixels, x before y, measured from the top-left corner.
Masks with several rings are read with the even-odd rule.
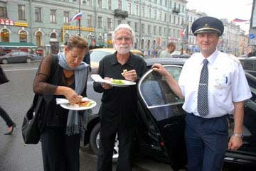
[[[242,145],[243,101],[252,94],[239,60],[216,49],[223,30],[217,18],[206,16],[193,22],[201,53],[186,60],[178,82],[163,66],[152,66],[185,99],[188,171],[220,171],[227,145],[230,150]],[[229,143],[228,114],[234,115],[235,122]]]

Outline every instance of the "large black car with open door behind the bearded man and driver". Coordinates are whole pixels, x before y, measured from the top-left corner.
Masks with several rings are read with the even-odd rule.
[[[171,91],[164,77],[152,71],[151,65],[158,62],[178,80],[183,58],[146,59],[149,70],[137,84],[139,96],[139,122],[134,137],[137,153],[148,155],[156,160],[168,162],[174,171],[186,166],[186,147],[184,142],[183,100]],[[239,150],[227,150],[226,169],[242,168],[252,170],[256,166],[256,77],[246,72],[252,91],[252,98],[245,101],[245,120],[243,126],[243,145]],[[92,97],[93,98],[93,97]],[[100,118],[97,114],[88,115],[87,130],[82,136],[84,145],[90,143],[95,154],[100,140]],[[230,116],[230,135],[233,134],[233,116]],[[118,157],[118,140],[114,145],[113,159]],[[238,165],[237,165],[238,164]],[[242,166],[242,167],[240,167]]]

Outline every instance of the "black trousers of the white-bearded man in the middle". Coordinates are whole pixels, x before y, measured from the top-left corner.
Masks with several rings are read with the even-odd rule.
[[[112,155],[116,133],[119,140],[119,158],[117,171],[131,171],[131,150],[134,128],[101,122],[100,151],[97,171],[112,171]]]

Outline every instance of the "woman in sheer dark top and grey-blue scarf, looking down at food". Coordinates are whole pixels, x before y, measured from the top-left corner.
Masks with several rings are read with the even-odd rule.
[[[82,62],[87,51],[88,44],[84,38],[70,37],[65,53],[58,57],[46,55],[36,73],[33,90],[42,94],[46,101],[43,110],[46,128],[41,134],[45,171],[80,170],[80,127],[85,125],[81,119],[84,113],[63,109],[56,105],[56,98],[66,98],[75,104],[81,101],[82,96],[87,96],[89,65]]]

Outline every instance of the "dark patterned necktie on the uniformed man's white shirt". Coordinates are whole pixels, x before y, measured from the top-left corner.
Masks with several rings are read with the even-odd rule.
[[[208,60],[203,60],[203,67],[198,86],[198,113],[206,116],[209,112],[208,107]]]

